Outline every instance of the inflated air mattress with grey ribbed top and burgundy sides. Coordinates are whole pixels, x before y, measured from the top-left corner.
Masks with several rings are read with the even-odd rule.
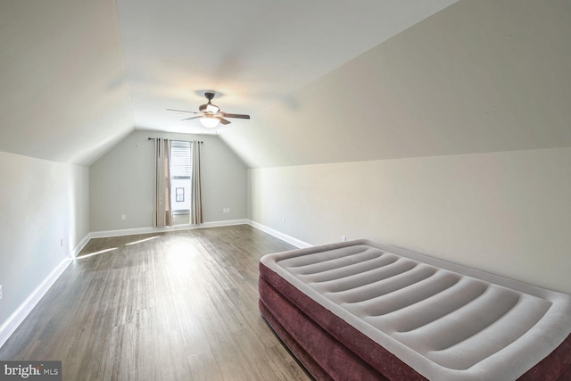
[[[261,314],[318,379],[571,379],[571,296],[368,240],[268,254]]]

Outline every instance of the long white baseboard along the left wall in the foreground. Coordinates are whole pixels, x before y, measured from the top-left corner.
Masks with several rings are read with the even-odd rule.
[[[26,319],[29,312],[36,307],[47,290],[54,285],[55,281],[60,277],[65,269],[68,268],[72,259],[65,258],[59,265],[44,279],[44,281],[36,287],[36,289],[21,303],[20,307],[10,315],[6,321],[0,326],[0,348],[8,341],[8,338],[14,333],[21,322]]]

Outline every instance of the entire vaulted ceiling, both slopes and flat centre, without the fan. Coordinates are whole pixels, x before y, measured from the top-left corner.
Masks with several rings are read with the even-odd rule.
[[[89,165],[135,128],[217,133],[251,167],[568,146],[570,8],[3,2],[0,151]],[[205,90],[252,119],[166,111]]]

